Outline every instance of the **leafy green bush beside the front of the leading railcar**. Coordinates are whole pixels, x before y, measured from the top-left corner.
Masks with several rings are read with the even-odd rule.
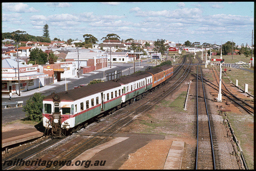
[[[23,106],[22,111],[25,112],[25,116],[28,117],[28,120],[36,122],[42,120],[44,97],[45,95],[41,93],[34,93],[33,97],[30,97],[26,101],[26,105]]]

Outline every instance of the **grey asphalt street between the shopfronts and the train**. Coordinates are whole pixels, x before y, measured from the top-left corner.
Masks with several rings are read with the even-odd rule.
[[[149,62],[149,60],[148,60]],[[147,64],[147,60],[144,60],[142,62],[142,66],[146,66]],[[150,64],[152,65],[152,64]],[[154,64],[153,64],[154,65]],[[110,65],[109,65],[110,66]],[[124,71],[125,69],[128,69],[130,67],[133,67],[133,63],[114,63],[111,69],[108,69],[105,72],[113,72],[113,71],[118,71],[118,70],[122,70]],[[136,71],[139,70],[140,68],[138,68],[139,66],[139,62],[135,62],[135,66],[137,66]],[[141,62],[140,62],[140,66],[141,66]],[[141,68],[142,70],[145,70],[146,67]],[[131,73],[133,72],[133,70],[131,70]],[[73,89],[74,87],[80,85],[80,84],[87,84],[90,81],[92,81],[93,79],[102,79],[104,76],[104,71],[93,71],[94,74],[90,74],[90,73],[86,73],[83,75],[79,76],[79,79],[77,78],[67,78],[67,82],[68,82],[68,90]],[[128,74],[128,73],[126,73]],[[105,73],[106,75],[106,73]],[[122,73],[122,75],[124,75]],[[69,82],[70,81],[70,82]],[[54,85],[54,84],[52,84]],[[47,85],[46,85],[47,86]],[[59,93],[65,91],[65,84],[64,85],[56,85],[55,87],[45,90],[43,92],[41,92],[43,95],[48,96],[50,95],[52,92],[55,93]],[[12,98],[12,101],[23,101],[23,106],[26,104],[26,100],[28,100],[30,97],[32,97],[33,95],[29,95],[29,96],[25,96],[25,97],[16,97],[16,98]],[[8,100],[8,98],[2,98],[2,103],[4,102],[10,102],[10,100]],[[2,109],[2,124],[3,123],[7,123],[7,122],[11,122],[17,119],[24,119],[25,116],[25,112],[22,111],[23,108],[7,108],[7,109]]]

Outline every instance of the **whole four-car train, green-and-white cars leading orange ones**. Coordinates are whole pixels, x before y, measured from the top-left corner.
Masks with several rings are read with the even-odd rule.
[[[43,99],[44,135],[62,138],[68,131],[87,125],[106,113],[139,100],[173,75],[173,66],[164,65],[114,80],[87,85]]]

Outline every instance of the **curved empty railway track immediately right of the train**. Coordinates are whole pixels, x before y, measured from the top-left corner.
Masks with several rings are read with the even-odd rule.
[[[186,58],[184,58],[182,65],[180,65],[177,68],[177,71],[180,71],[180,69],[185,64],[185,62],[186,62]],[[103,123],[103,122],[95,123],[97,125],[101,124],[101,126],[100,126],[101,129],[97,126],[99,132],[97,132],[96,135],[86,136],[86,135],[82,135],[82,133],[81,133],[81,135],[80,135],[80,133],[78,133],[78,135],[76,135],[77,133],[75,133],[76,137],[73,140],[71,140],[68,143],[65,143],[63,145],[55,145],[55,146],[58,146],[57,149],[55,149],[54,151],[49,152],[47,154],[44,154],[43,157],[40,157],[41,160],[46,160],[46,161],[48,161],[48,160],[72,160],[76,156],[78,156],[81,152],[84,152],[87,149],[90,149],[97,145],[100,145],[103,142],[107,142],[108,139],[111,139],[110,138],[111,135],[113,135],[118,130],[124,128],[124,126],[126,126],[128,123],[132,122],[136,117],[138,117],[139,115],[144,113],[146,110],[153,107],[157,102],[162,100],[164,97],[166,97],[168,94],[170,94],[178,85],[180,85],[182,83],[182,81],[187,77],[187,75],[190,71],[191,64],[192,64],[192,60],[190,58],[187,69],[183,72],[182,76],[180,76],[180,78],[172,85],[170,85],[171,84],[171,81],[170,81],[170,83],[168,83],[168,88],[164,89],[162,91],[162,93],[158,94],[154,99],[149,100],[147,103],[143,104],[141,107],[137,108],[136,110],[134,110],[132,112],[124,112],[123,111],[124,108],[117,110],[110,117],[110,118],[112,118],[112,121],[108,120],[107,124]],[[174,75],[176,75],[177,73],[179,73],[179,72],[176,72]],[[121,117],[121,119],[120,119],[120,117]],[[104,120],[104,118],[102,120]],[[104,139],[102,137],[100,137],[100,136],[102,136],[103,133],[108,133],[107,134],[108,136]],[[71,150],[71,147],[73,148],[72,150]],[[39,155],[40,152],[38,152],[37,154]],[[36,153],[33,156],[36,156]],[[38,160],[39,158],[36,158],[36,159]],[[46,167],[43,168],[42,166],[28,166],[28,167],[23,167],[22,169],[32,170],[32,169],[45,169],[45,168]],[[8,168],[8,169],[10,169],[10,168]],[[17,169],[17,167],[14,167],[14,169]],[[55,169],[59,169],[59,168],[55,167]]]

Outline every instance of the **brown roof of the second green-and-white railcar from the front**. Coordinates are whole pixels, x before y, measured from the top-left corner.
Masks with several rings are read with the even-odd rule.
[[[137,81],[137,80],[140,80],[140,79],[143,79],[143,78],[146,78],[146,77],[150,77],[150,76],[151,76],[151,74],[149,74],[147,72],[139,72],[139,73],[136,73],[136,74],[125,76],[125,77],[116,78],[112,81],[118,82],[118,83],[121,83],[121,84],[128,84],[128,83],[132,83],[134,81]]]

